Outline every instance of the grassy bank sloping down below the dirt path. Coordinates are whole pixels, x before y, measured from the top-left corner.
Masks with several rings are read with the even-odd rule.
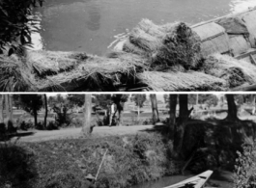
[[[142,133],[2,146],[0,187],[79,188],[97,174],[107,148],[97,187],[128,187],[179,172],[169,145],[160,134]]]

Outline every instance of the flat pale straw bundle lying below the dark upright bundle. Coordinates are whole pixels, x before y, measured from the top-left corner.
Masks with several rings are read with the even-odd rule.
[[[159,72],[145,71],[138,75],[141,83],[147,84],[155,92],[177,91],[225,91],[223,79],[203,72]]]

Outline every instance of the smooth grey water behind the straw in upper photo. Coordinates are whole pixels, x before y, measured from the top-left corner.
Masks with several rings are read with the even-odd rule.
[[[118,34],[142,18],[197,23],[256,6],[256,0],[45,0],[37,48],[103,55]]]

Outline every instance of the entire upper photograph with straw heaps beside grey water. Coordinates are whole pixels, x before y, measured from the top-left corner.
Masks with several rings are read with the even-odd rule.
[[[256,91],[255,0],[1,0],[0,92]]]

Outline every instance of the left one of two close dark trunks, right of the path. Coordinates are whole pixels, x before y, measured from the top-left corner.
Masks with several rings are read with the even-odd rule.
[[[176,131],[176,106],[177,106],[177,96],[178,94],[169,94],[169,115],[170,115],[170,120],[169,120],[169,135],[170,139],[173,141],[174,140],[174,134]]]

